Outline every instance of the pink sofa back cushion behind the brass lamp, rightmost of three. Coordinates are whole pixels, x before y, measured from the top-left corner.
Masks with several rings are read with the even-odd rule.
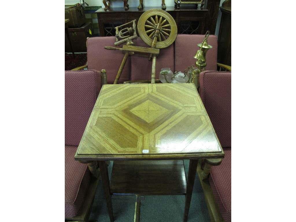
[[[197,50],[200,49],[197,44],[202,43],[205,35],[187,35],[187,34],[178,34],[175,44],[175,71],[184,71],[188,66],[194,65],[196,59],[195,56]],[[217,49],[218,41],[217,36],[209,35],[207,39],[207,44],[213,46],[212,49],[209,49],[206,53],[206,62],[207,66],[205,70],[217,70]]]

